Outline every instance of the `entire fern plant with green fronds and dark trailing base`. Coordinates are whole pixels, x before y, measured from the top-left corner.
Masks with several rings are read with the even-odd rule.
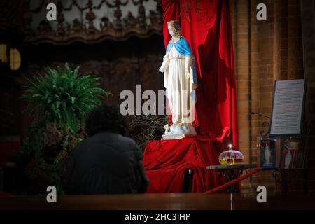
[[[27,78],[29,85],[22,98],[27,100],[27,111],[34,121],[15,155],[28,160],[25,172],[30,179],[30,194],[45,193],[49,185],[64,193],[66,160],[85,137],[85,116],[101,104],[100,97],[109,94],[99,88],[100,78],[79,75],[78,69],[71,70],[68,64],[64,70],[45,67],[43,76],[36,73]]]

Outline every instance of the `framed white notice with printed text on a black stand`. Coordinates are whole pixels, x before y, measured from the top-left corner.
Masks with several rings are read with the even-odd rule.
[[[307,80],[278,80],[274,83],[270,136],[301,134]]]

